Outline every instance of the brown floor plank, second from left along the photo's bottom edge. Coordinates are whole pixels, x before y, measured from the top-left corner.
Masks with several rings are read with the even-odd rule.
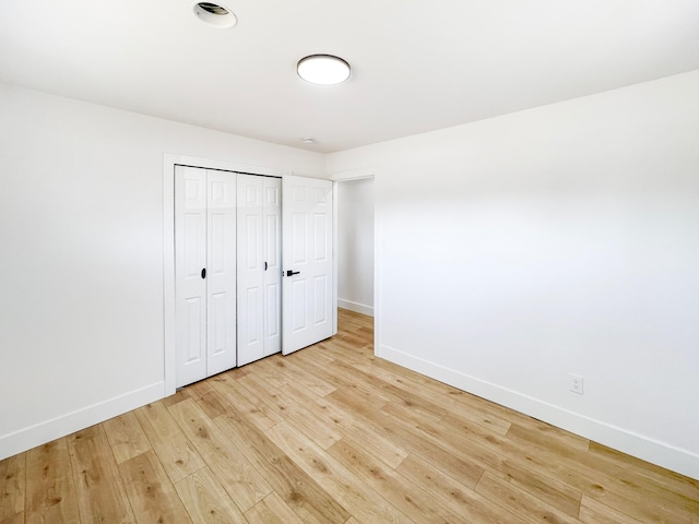
[[[81,522],[66,438],[26,452],[27,524]]]

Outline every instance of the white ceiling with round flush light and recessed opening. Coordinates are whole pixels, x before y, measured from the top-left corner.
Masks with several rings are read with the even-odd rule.
[[[0,81],[323,153],[699,69],[699,0],[0,1]]]

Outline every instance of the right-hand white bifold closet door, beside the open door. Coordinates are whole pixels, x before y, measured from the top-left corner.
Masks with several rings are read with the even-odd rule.
[[[282,350],[279,178],[238,175],[238,366]]]

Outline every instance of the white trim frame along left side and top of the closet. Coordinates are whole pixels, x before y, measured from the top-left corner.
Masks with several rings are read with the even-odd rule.
[[[291,171],[253,166],[229,160],[215,160],[193,156],[163,155],[163,360],[165,391],[164,396],[175,394],[177,378],[177,353],[175,349],[175,166],[190,166],[202,169],[284,177]]]

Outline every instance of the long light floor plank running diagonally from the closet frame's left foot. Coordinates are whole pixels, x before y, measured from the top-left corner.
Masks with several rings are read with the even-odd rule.
[[[272,492],[245,453],[193,400],[179,402],[169,410],[240,511],[246,512]]]

